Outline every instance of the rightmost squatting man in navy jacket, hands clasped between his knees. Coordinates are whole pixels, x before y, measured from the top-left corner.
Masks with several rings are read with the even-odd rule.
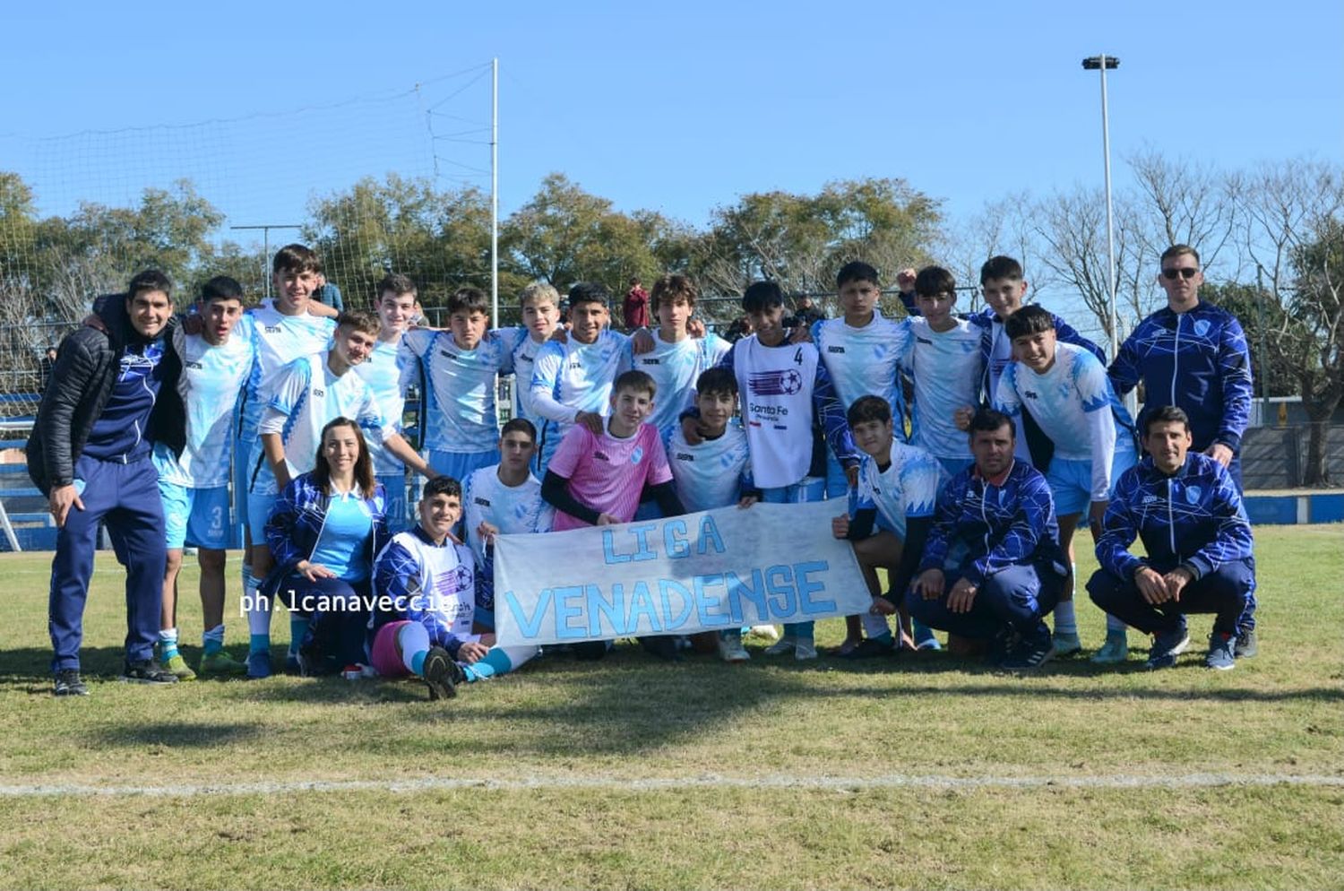
[[[1255,583],[1251,524],[1236,482],[1218,458],[1192,450],[1189,417],[1145,413],[1148,454],[1116,486],[1102,535],[1093,602],[1153,636],[1148,668],[1168,668],[1189,645],[1185,616],[1214,613],[1204,664],[1236,665],[1236,621]],[[1134,539],[1146,556],[1129,551]]]

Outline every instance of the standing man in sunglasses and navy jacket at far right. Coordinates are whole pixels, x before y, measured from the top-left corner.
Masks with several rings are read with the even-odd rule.
[[[1124,395],[1140,382],[1148,405],[1172,405],[1189,418],[1193,450],[1227,468],[1242,491],[1242,434],[1250,421],[1251,356],[1242,324],[1226,309],[1200,302],[1199,253],[1172,245],[1161,255],[1157,284],[1167,306],[1138,324],[1110,364]],[[1255,653],[1255,597],[1238,621],[1236,656]]]

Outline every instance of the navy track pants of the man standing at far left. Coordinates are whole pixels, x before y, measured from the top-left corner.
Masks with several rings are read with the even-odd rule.
[[[83,607],[99,521],[106,521],[117,559],[126,567],[126,659],[152,659],[167,560],[159,474],[148,457],[132,464],[82,457],[75,464],[75,480],[77,486],[83,485],[79,497],[85,509],[71,508],[66,515],[51,560],[47,601],[47,630],[55,652],[51,668],[56,672],[79,668]]]

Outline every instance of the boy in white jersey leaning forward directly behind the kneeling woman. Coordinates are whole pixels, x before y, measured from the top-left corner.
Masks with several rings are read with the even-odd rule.
[[[366,430],[380,430],[383,446],[406,466],[426,477],[434,476],[383,418],[363,378],[348,374],[372,351],[378,331],[378,321],[367,313],[341,314],[331,349],[297,359],[277,376],[257,427],[261,441],[250,461],[247,521],[251,528],[265,528],[280,492],[293,477],[313,469],[321,429],[339,417],[355,418]],[[265,578],[274,563],[270,548],[265,543],[253,546],[251,558],[253,572]],[[269,677],[270,603],[254,591],[250,594],[247,676]],[[298,640],[294,637],[292,634],[290,657],[297,665]]]

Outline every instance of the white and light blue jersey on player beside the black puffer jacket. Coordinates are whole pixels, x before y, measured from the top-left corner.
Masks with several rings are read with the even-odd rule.
[[[234,411],[238,395],[253,372],[257,344],[253,328],[234,327],[222,344],[173,329],[172,349],[181,357],[177,392],[187,413],[187,439],[181,456],[155,449],[159,478],[188,489],[228,485],[234,450]]]

